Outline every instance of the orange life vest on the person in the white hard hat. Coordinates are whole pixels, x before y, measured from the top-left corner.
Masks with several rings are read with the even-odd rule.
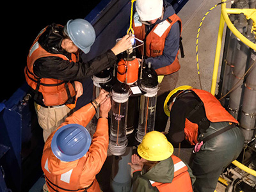
[[[180,18],[173,14],[172,16],[168,17],[168,19],[164,20],[163,22],[156,24],[154,28],[148,33],[146,36],[145,32],[145,24],[142,24],[139,20],[138,13],[134,13],[134,17],[132,20],[132,29],[134,29],[134,35],[136,38],[143,40],[145,42],[145,55],[147,57],[156,57],[161,56],[164,50],[165,39],[168,36],[172,25],[175,22],[179,22],[180,24],[180,33],[182,31],[182,22]],[[142,47],[139,47],[140,52],[142,52]],[[178,60],[179,51],[175,57],[173,63],[166,67],[157,68],[156,72],[157,75],[168,75],[172,74],[173,72],[177,72],[180,69],[180,63]]]

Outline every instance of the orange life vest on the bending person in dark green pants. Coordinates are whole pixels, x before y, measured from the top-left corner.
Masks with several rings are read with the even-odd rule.
[[[221,106],[220,102],[211,93],[205,90],[192,90],[204,103],[205,115],[210,122],[232,122],[238,124],[237,120]],[[198,143],[198,124],[194,124],[186,118],[184,132],[186,140],[191,145]]]

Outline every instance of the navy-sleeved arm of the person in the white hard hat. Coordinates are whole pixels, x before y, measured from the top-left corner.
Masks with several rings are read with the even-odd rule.
[[[177,52],[179,51],[180,42],[180,27],[179,22],[173,24],[168,36],[164,43],[163,55],[156,56],[154,58],[147,58],[146,63],[150,62],[154,69],[166,67],[171,65],[176,58]]]

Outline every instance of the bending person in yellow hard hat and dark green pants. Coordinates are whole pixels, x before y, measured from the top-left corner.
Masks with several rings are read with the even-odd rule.
[[[195,146],[191,169],[195,192],[214,192],[220,174],[241,153],[244,136],[237,120],[205,90],[179,86],[169,93],[164,111],[170,116],[166,138],[174,146]]]

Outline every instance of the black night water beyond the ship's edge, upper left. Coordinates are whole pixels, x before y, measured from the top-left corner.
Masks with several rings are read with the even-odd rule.
[[[70,19],[86,17],[100,0],[93,1],[7,1],[2,7],[0,102],[25,81],[24,67],[36,35],[52,22],[65,25]]]

